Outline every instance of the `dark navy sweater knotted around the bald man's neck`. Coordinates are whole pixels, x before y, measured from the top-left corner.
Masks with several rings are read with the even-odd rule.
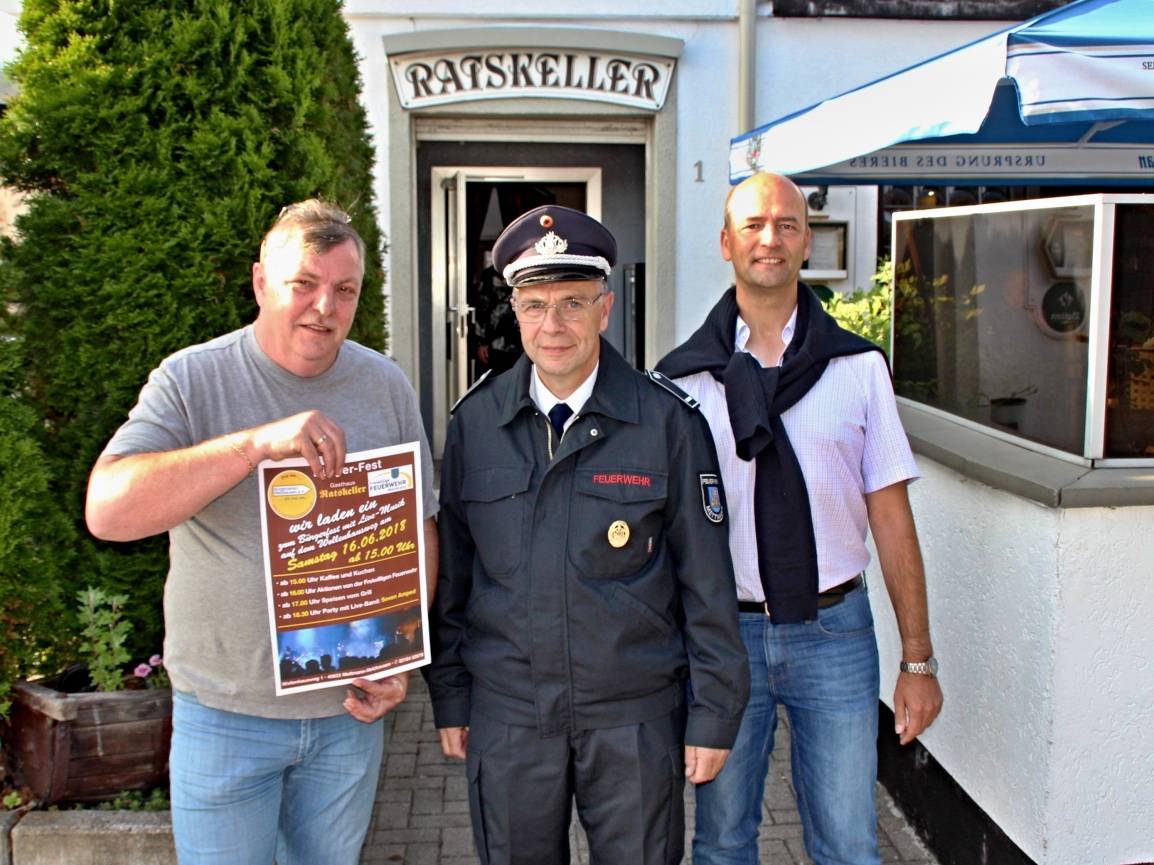
[[[737,292],[729,288],[704,324],[657,368],[670,378],[710,373],[725,385],[737,456],[757,460],[754,516],[757,563],[777,623],[817,616],[817,542],[805,479],[781,415],[822,377],[831,358],[879,352],[842,330],[805,284],[797,288],[797,319],[780,367],[762,367],[734,351]]]

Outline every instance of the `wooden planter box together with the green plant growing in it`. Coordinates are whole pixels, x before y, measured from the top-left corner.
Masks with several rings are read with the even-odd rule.
[[[8,729],[17,776],[42,805],[106,800],[167,776],[172,691],[157,655],[126,672],[125,600],[80,592],[85,664],[13,687]]]

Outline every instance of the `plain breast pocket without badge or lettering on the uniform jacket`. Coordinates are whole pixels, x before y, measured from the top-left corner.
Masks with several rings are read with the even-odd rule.
[[[465,519],[490,577],[508,574],[520,564],[531,475],[531,466],[507,466],[470,472],[462,480]]]

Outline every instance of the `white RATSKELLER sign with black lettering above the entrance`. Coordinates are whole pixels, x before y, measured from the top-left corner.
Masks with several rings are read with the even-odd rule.
[[[392,80],[406,108],[538,97],[593,99],[659,111],[675,61],[574,48],[499,48],[399,54]]]

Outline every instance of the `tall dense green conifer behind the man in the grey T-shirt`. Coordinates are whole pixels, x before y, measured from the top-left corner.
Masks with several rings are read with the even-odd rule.
[[[88,473],[160,359],[253,319],[252,262],[284,204],[321,196],[353,216],[369,253],[351,336],[384,347],[357,58],[339,0],[24,0],[20,27],[0,181],[31,198],[0,246],[0,339],[22,376],[0,434],[33,437],[45,498],[75,532],[43,573],[53,595],[128,594],[147,657],[166,539],[91,539]],[[24,543],[46,558],[48,539]]]

